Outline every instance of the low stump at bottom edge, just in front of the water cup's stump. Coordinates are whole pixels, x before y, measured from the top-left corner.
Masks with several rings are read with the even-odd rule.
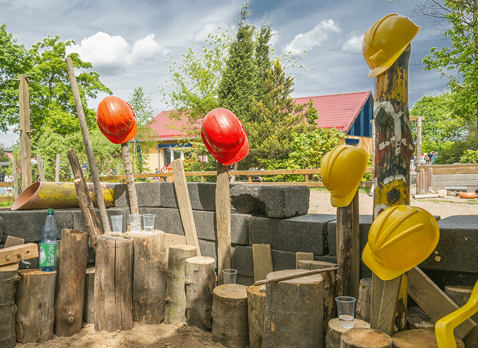
[[[375,329],[351,328],[340,336],[340,348],[392,348],[392,338]]]

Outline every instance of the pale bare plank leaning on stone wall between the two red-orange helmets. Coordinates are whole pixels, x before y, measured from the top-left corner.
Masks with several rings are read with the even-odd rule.
[[[182,159],[177,158],[173,160],[171,162],[171,166],[172,176],[174,179],[174,190],[176,190],[177,205],[179,207],[179,214],[181,215],[184,235],[186,236],[186,243],[188,245],[196,246],[196,256],[201,256],[198,234],[196,232],[196,225],[194,223],[193,208],[191,207],[189,192],[187,191],[187,183],[186,177],[184,176],[184,165],[182,164]]]

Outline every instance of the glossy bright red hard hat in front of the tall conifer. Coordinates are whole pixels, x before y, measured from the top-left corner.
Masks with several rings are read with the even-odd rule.
[[[214,109],[206,115],[201,138],[214,158],[224,165],[239,162],[249,153],[244,126],[227,109]]]

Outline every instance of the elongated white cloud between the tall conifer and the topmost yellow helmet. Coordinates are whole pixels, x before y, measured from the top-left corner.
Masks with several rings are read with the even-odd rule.
[[[329,38],[329,33],[340,33],[341,31],[334,20],[324,20],[307,33],[298,34],[289,45],[285,46],[284,51],[300,54],[303,50],[313,46],[321,46]]]

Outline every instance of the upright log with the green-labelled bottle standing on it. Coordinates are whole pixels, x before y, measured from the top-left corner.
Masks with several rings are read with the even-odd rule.
[[[20,270],[18,274],[21,278],[15,294],[17,341],[46,342],[53,335],[57,271]]]

